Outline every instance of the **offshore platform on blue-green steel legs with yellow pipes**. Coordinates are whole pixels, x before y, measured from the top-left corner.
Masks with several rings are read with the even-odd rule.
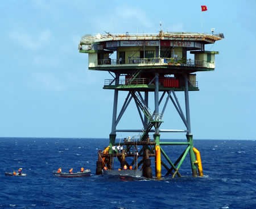
[[[205,51],[205,44],[214,44],[223,38],[223,34],[163,31],[159,34],[126,32],[82,36],[79,52],[88,53],[89,70],[104,70],[113,77],[105,80],[103,87],[114,90],[112,129],[108,147],[98,151],[96,174],[128,167],[141,170],[146,178],[153,177],[153,169],[156,178],[181,176],[181,165],[189,155],[192,175],[203,175],[200,152],[193,146],[189,91],[199,90],[196,72],[215,68],[218,52]],[[184,110],[176,95],[180,91],[184,91]],[[118,101],[121,94],[126,97]],[[131,101],[135,102],[142,125],[138,129],[117,129]],[[118,102],[122,102],[119,108]],[[160,128],[167,103],[175,107],[184,129]],[[119,132],[136,135],[119,140]],[[176,132],[184,132],[185,140],[160,140],[161,133]],[[171,159],[167,146],[183,146],[184,149]]]

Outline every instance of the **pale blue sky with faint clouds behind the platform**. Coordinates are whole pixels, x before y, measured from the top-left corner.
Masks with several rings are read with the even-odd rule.
[[[225,35],[207,47],[220,52],[215,71],[197,73],[200,91],[189,95],[194,138],[255,139],[255,7],[254,0],[1,2],[0,136],[108,137],[113,91],[102,87],[110,76],[88,70],[79,40],[158,33],[162,22],[163,31]],[[162,128],[183,129],[168,108]],[[128,112],[122,128],[142,128]]]

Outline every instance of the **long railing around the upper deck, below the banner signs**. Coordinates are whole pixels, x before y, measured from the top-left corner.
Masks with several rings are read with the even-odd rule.
[[[214,62],[207,62],[205,60],[183,60],[178,58],[129,58],[128,60],[123,59],[105,59],[98,60],[98,65],[176,65],[176,66],[188,66],[188,67],[204,67],[214,68]]]

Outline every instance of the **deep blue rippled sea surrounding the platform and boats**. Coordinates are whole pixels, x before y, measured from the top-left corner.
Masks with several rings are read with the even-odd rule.
[[[204,177],[191,176],[187,159],[183,177],[161,180],[95,175],[97,151],[107,145],[108,139],[0,138],[0,208],[256,208],[255,140],[194,140]],[[52,175],[81,166],[92,175]],[[18,168],[27,176],[5,176]]]

